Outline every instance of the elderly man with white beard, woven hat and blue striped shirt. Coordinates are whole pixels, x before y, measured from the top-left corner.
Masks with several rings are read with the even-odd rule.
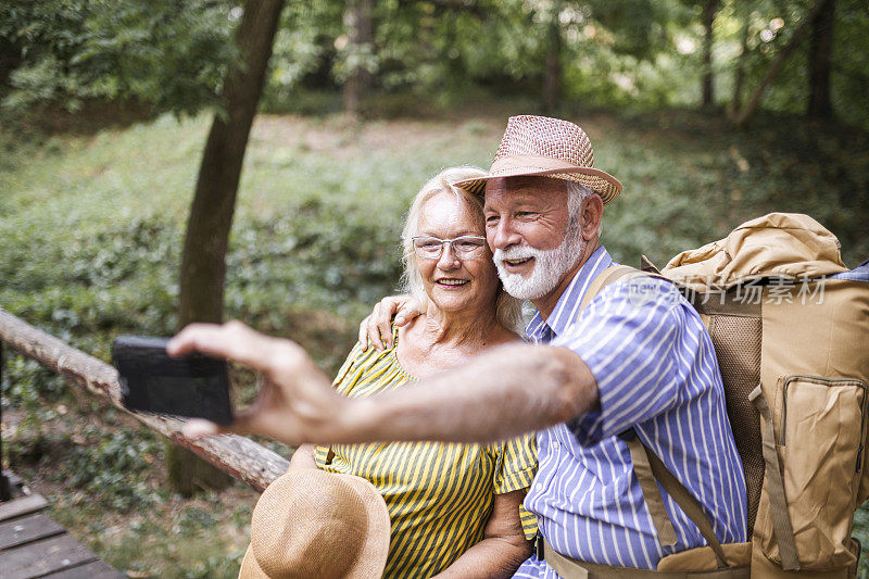
[[[707,542],[745,541],[742,466],[697,314],[654,278],[617,281],[585,300],[612,272],[599,232],[621,185],[593,167],[582,129],[513,117],[490,173],[459,186],[484,191],[499,274],[511,294],[537,306],[527,331],[546,348],[506,345],[362,400],[337,397],[297,344],[240,324],[185,329],[171,352],[200,350],[264,372],[264,391],[234,431],[328,443],[489,441],[538,430],[540,467],[525,506],[538,517],[544,547],[517,577],[619,576],[656,569],[667,555]],[[389,313],[380,307],[373,325]],[[648,483],[646,457],[676,479],[663,484],[667,491]]]

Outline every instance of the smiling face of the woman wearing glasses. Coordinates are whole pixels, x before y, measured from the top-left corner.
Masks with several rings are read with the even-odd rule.
[[[482,214],[451,192],[437,193],[426,201],[418,224],[419,236],[486,236]],[[440,310],[467,311],[470,315],[494,310],[500,282],[488,247],[477,257],[463,259],[448,244],[438,259],[417,255],[416,266],[426,294]]]

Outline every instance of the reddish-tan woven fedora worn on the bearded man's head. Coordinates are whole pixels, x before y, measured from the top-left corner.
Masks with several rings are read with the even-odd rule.
[[[530,175],[584,185],[601,196],[604,205],[621,192],[618,179],[594,168],[584,130],[567,121],[532,115],[509,117],[488,175],[455,185],[481,194],[490,179]]]

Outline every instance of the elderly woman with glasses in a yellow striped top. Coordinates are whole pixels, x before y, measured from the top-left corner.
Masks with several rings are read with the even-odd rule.
[[[400,388],[518,339],[520,303],[498,278],[482,201],[451,185],[483,174],[449,168],[417,193],[402,232],[404,278],[425,315],[393,327],[385,351],[356,344],[335,379],[342,394]],[[509,577],[529,554],[526,532],[536,530],[521,509],[534,455],[530,436],[488,445],[305,444],[290,469],[357,475],[378,489],[392,523],[385,577]]]

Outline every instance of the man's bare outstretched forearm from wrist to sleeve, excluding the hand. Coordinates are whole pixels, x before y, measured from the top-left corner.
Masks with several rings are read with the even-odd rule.
[[[563,423],[597,404],[588,366],[562,348],[507,344],[423,382],[358,401],[370,440],[487,442]]]

